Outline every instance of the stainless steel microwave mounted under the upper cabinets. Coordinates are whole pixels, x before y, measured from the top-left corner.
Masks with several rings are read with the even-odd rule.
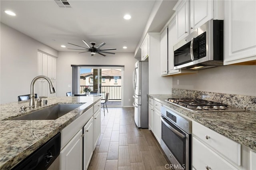
[[[174,69],[222,66],[223,43],[223,20],[209,20],[174,45]]]

